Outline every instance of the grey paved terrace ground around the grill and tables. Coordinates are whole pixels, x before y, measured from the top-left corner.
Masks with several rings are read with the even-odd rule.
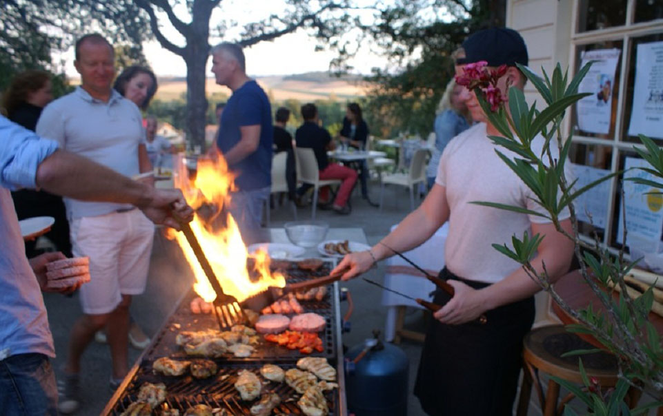
[[[373,199],[379,200],[379,187],[373,185]],[[418,201],[417,201],[418,203]],[[370,207],[356,194],[353,196],[353,213],[349,216],[339,216],[331,211],[318,211],[318,217],[330,223],[330,227],[362,227],[370,244],[375,244],[388,232],[389,228],[399,222],[409,211],[408,194],[405,189],[387,189],[385,207],[382,213],[375,207]],[[299,219],[310,218],[309,209],[298,210]],[[273,209],[271,226],[281,227],[284,222],[293,220],[290,207]],[[382,280],[384,269],[382,266],[371,270],[370,278]],[[181,258],[179,248],[172,242],[163,238],[155,240],[150,265],[150,277],[146,292],[137,296],[132,304],[132,315],[141,324],[148,334],[154,334],[161,322],[170,313],[175,300],[181,293],[187,291],[192,282],[192,276],[184,260]],[[353,293],[355,299],[355,313],[353,314],[352,331],[344,335],[344,344],[354,346],[371,336],[373,329],[384,328],[385,309],[380,306],[379,290],[370,287],[359,280],[348,282],[346,286]],[[58,357],[55,359],[55,368],[59,374],[59,367],[66,355],[66,343],[69,328],[75,318],[81,313],[79,300],[76,296],[64,298],[61,295],[46,294],[44,296],[51,329],[55,337],[55,347]],[[345,308],[345,306],[344,306]],[[410,311],[406,316],[406,326],[423,331],[426,318],[419,311]],[[411,394],[411,389],[419,362],[421,344],[416,342],[403,342],[400,347],[406,352],[410,360],[410,399],[408,415],[424,415],[419,403]],[[130,350],[130,359],[135,360],[139,351]],[[108,346],[92,342],[83,357],[83,373],[81,387],[83,403],[78,415],[97,415],[110,399],[112,391],[108,386],[110,377],[110,354]],[[531,414],[540,414],[532,409]]]

